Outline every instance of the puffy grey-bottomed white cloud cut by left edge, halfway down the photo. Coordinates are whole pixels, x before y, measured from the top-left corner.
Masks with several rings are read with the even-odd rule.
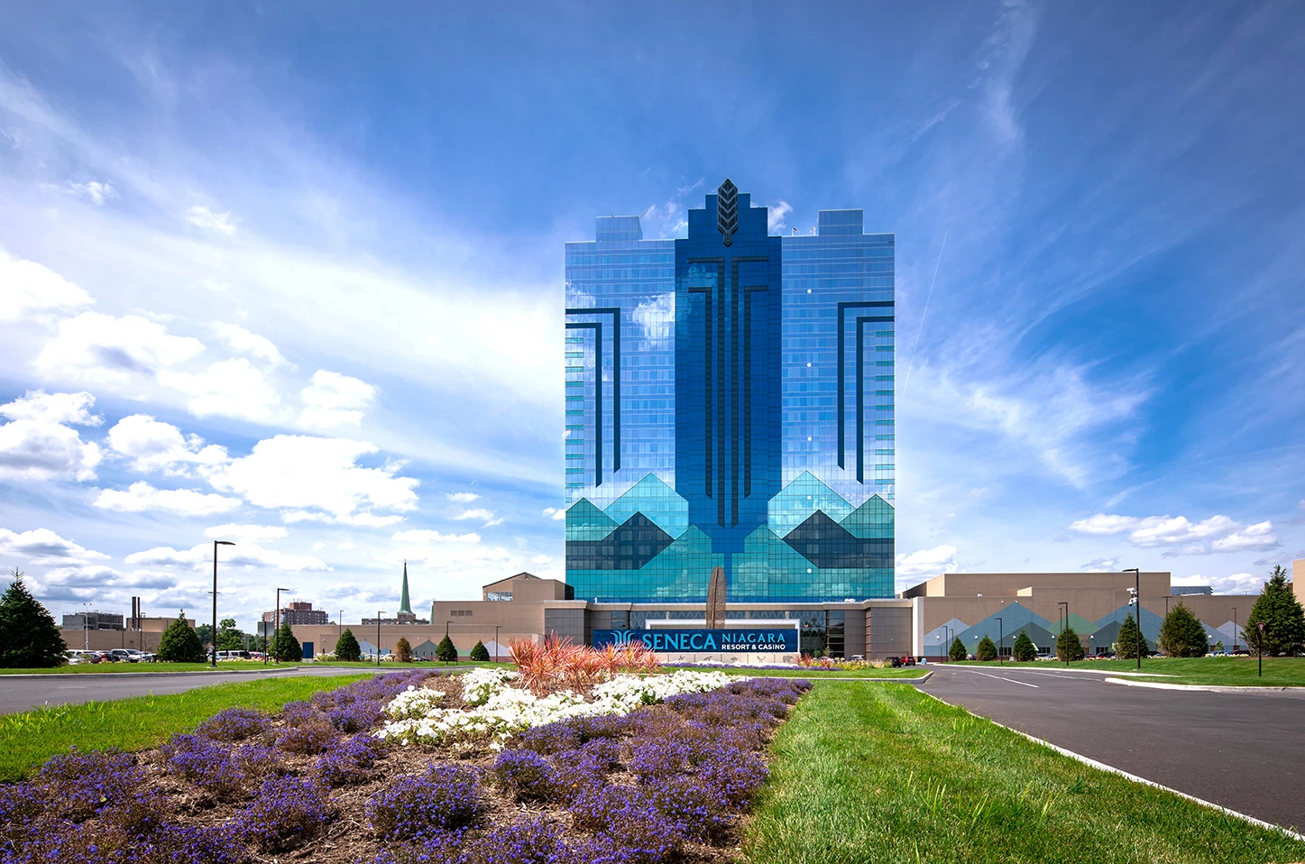
[[[12,418],[0,425],[0,479],[93,480],[99,445],[64,424],[99,424],[89,412],[94,402],[89,393],[35,390],[0,406],[0,415]]]

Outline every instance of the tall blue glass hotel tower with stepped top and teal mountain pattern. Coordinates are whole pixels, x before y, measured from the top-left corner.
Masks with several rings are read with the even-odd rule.
[[[770,236],[726,180],[688,238],[600,217],[566,244],[566,582],[576,599],[893,596],[893,235],[860,210]]]

